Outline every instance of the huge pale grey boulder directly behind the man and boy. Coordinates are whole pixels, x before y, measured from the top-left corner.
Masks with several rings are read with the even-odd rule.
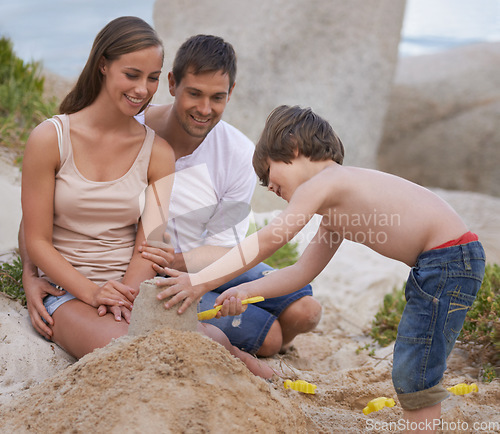
[[[276,106],[310,106],[341,137],[346,163],[374,167],[404,9],[392,0],[157,0],[154,24],[165,70],[192,35],[231,42],[238,75],[224,119],[250,139]],[[155,102],[171,101],[166,77]]]

